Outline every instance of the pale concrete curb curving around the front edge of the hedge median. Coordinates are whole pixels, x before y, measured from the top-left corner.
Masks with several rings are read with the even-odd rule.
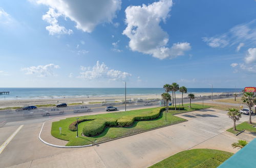
[[[54,144],[50,144],[50,143],[48,143],[48,142],[45,142],[40,136],[41,136],[42,128],[44,128],[44,125],[45,125],[45,123],[47,122],[47,121],[46,121],[46,122],[44,122],[44,124],[42,124],[42,128],[41,128],[41,130],[40,130],[40,133],[39,133],[39,135],[38,135],[38,138],[40,139],[40,141],[41,141],[42,143],[44,143],[44,144],[46,144],[46,145],[49,145],[49,146],[52,146],[52,147],[56,147],[56,148],[84,148],[84,147],[92,147],[92,146],[99,145],[99,144],[103,144],[103,143],[110,142],[110,141],[115,141],[116,139],[120,139],[120,138],[124,138],[124,137],[128,137],[128,136],[133,136],[133,135],[140,134],[140,133],[144,133],[144,132],[147,132],[147,131],[152,131],[152,130],[159,129],[159,128],[163,128],[163,127],[168,127],[168,126],[175,125],[175,124],[179,124],[179,123],[183,123],[183,122],[186,122],[186,121],[188,121],[188,120],[180,121],[180,122],[173,123],[173,124],[163,125],[163,126],[160,126],[160,127],[156,127],[156,128],[144,130],[144,131],[141,131],[141,132],[136,132],[136,133],[133,133],[133,134],[130,134],[130,135],[124,135],[124,136],[116,137],[116,138],[113,138],[113,139],[108,139],[108,140],[106,140],[106,141],[102,141],[102,142],[95,143],[95,144],[82,145],[82,146],[59,146],[59,145],[54,145]]]

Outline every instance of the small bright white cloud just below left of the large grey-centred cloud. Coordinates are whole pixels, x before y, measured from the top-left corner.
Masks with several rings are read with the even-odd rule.
[[[61,13],[57,13],[53,8],[49,8],[49,11],[42,16],[42,20],[50,23],[50,25],[46,26],[46,30],[49,31],[50,35],[72,34],[72,30],[67,30],[64,26],[58,24],[57,18],[59,16],[61,16]]]

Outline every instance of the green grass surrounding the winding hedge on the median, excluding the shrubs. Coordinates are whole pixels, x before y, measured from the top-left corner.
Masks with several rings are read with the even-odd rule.
[[[169,110],[169,113],[167,113],[167,121],[165,122],[165,113],[161,113],[160,117],[154,120],[150,121],[134,121],[134,124],[129,127],[105,127],[104,131],[97,135],[97,136],[82,136],[82,128],[89,124],[92,121],[86,121],[78,124],[78,134],[79,137],[76,138],[76,131],[70,131],[69,125],[76,121],[76,117],[73,118],[67,118],[63,119],[57,122],[52,123],[52,130],[51,134],[59,139],[63,139],[66,141],[69,141],[66,146],[78,146],[78,145],[89,145],[96,142],[105,141],[108,139],[129,135],[136,132],[141,132],[144,130],[174,124],[181,121],[186,121],[185,119],[173,116],[173,114],[183,113],[184,111],[193,111],[202,109],[202,105],[198,104],[192,104],[192,108],[188,109],[188,104],[184,104],[185,110]],[[204,106],[204,108],[207,108],[208,106]],[[161,107],[156,107],[160,109]],[[138,114],[147,114],[149,111],[154,110],[156,108],[144,108],[144,109],[138,109],[138,110],[130,110],[130,111],[122,111],[117,113],[106,113],[106,114],[100,114],[100,115],[90,115],[90,116],[82,116],[79,117],[80,119],[101,119],[101,118],[114,118],[114,119],[120,119],[123,116],[134,116]],[[59,134],[59,127],[62,127],[61,134]]]

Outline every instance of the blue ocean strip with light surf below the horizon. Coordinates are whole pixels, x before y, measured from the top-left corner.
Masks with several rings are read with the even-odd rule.
[[[243,89],[214,88],[214,93],[241,92]],[[44,99],[79,98],[124,95],[124,88],[0,88],[0,92],[9,91],[9,95],[0,95],[2,99]],[[127,95],[161,94],[163,88],[126,88]],[[188,93],[211,93],[211,88],[188,88]],[[179,93],[179,92],[177,92]]]

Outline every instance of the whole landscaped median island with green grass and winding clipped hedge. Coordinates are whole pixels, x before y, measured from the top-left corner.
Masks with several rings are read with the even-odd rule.
[[[204,106],[208,108],[209,106]],[[179,108],[177,108],[179,109]],[[202,105],[184,104],[184,110],[169,110],[165,121],[165,107],[144,108],[100,115],[82,116],[78,119],[78,135],[76,137],[76,117],[52,123],[51,134],[59,139],[69,141],[66,146],[95,144],[109,139],[122,137],[162,126],[186,121],[174,116],[193,110],[203,109]],[[61,127],[61,134],[59,134]]]

